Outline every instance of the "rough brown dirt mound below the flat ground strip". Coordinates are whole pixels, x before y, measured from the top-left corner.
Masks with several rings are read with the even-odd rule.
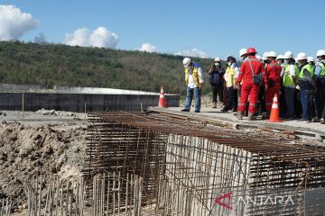
[[[86,128],[53,129],[17,122],[0,123],[0,198],[25,203],[23,183],[32,175],[80,175]]]

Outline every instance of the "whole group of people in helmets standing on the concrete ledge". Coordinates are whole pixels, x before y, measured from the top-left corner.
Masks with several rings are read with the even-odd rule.
[[[256,116],[268,119],[274,98],[280,102],[280,116],[286,120],[325,123],[325,50],[313,58],[300,52],[293,57],[291,51],[277,55],[265,52],[256,55],[254,48],[240,49],[240,61],[228,56],[227,67],[222,67],[220,58],[214,59],[209,68],[209,83],[212,91],[212,107],[217,108],[220,89],[223,97],[220,112],[237,112],[237,119],[247,115],[249,121]],[[203,72],[200,64],[190,58],[183,59],[187,97],[182,112],[190,112],[195,96],[195,112],[200,112],[200,96]],[[220,94],[219,94],[220,98]],[[221,99],[221,98],[220,98]]]

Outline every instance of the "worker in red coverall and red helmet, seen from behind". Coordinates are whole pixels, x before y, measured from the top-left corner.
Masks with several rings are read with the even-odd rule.
[[[260,85],[263,83],[263,76],[265,75],[265,67],[262,62],[255,58],[256,50],[254,48],[247,49],[247,58],[240,67],[239,76],[237,78],[237,85],[243,81],[241,95],[238,105],[237,119],[243,119],[246,111],[247,100],[249,99],[248,120],[254,120],[256,110],[256,103],[258,99],[258,92]],[[252,71],[252,69],[254,71]],[[253,73],[259,77],[259,82],[254,84]],[[256,79],[255,79],[256,80]]]

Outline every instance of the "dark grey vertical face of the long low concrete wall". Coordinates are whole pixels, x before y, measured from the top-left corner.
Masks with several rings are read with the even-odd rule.
[[[24,100],[23,100],[24,99]],[[104,111],[140,111],[143,108],[157,106],[159,95],[136,94],[37,94],[37,93],[0,93],[1,110],[25,111],[47,110],[84,112]],[[168,106],[179,106],[180,96],[166,96]]]

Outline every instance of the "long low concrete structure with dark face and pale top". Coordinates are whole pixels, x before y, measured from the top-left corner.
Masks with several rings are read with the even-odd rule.
[[[180,95],[165,94],[168,106],[179,106]],[[140,111],[156,106],[158,93],[113,88],[54,86],[45,89],[39,85],[0,85],[0,109],[69,112]]]

